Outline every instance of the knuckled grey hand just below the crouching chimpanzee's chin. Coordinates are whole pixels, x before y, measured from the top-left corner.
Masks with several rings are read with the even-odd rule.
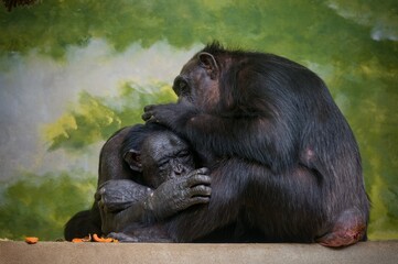
[[[161,184],[144,200],[144,210],[164,219],[191,206],[207,204],[212,193],[207,173],[207,168],[198,168]]]

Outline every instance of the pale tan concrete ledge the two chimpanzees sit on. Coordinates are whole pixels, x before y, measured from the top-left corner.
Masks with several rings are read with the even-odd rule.
[[[0,242],[0,263],[398,263],[398,241],[331,250],[318,244]]]

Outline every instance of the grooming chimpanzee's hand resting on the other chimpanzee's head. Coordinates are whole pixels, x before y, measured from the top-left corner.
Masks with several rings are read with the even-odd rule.
[[[147,106],[143,111],[143,121],[155,122],[168,128],[172,128],[178,120],[182,119],[183,116],[189,118],[192,113],[196,112],[196,109],[193,105],[180,102]]]

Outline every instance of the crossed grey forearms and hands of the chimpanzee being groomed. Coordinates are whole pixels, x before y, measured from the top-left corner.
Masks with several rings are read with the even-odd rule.
[[[193,205],[207,204],[211,178],[206,168],[170,179],[157,189],[132,180],[109,180],[96,194],[103,208],[103,231],[122,231],[132,223],[150,223],[173,216]]]

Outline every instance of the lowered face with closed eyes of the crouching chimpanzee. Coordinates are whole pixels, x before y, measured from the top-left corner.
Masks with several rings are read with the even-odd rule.
[[[143,180],[153,188],[195,168],[189,145],[172,132],[148,136],[141,146],[141,162]]]

